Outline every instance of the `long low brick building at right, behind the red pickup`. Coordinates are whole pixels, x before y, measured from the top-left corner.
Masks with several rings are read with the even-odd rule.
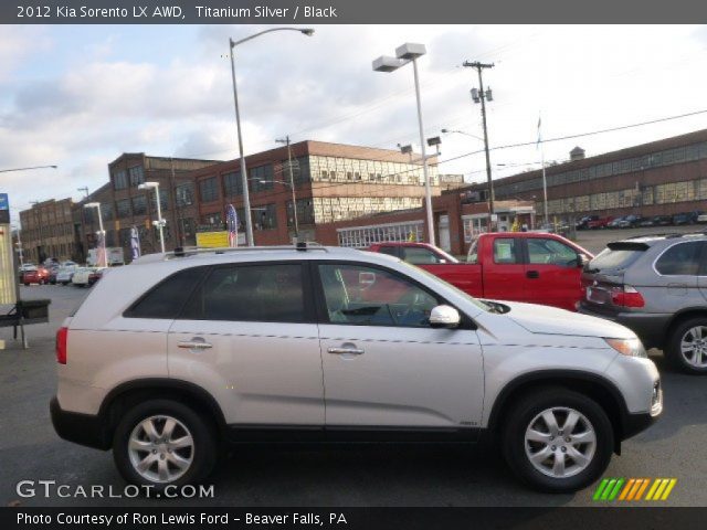
[[[570,161],[546,168],[548,213],[571,221],[598,215],[671,215],[705,210],[707,129],[584,157],[574,148]],[[466,188],[485,200],[485,183]],[[544,211],[542,171],[494,180],[497,200],[531,200]]]

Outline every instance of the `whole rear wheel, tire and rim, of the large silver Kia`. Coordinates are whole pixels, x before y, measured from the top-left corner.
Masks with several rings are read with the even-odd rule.
[[[171,400],[152,400],[129,410],[118,423],[113,458],[131,484],[167,486],[204,479],[217,459],[211,424],[190,407]]]

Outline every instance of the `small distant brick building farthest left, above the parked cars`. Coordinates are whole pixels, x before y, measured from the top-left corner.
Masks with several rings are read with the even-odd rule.
[[[25,262],[41,263],[48,257],[66,261],[76,255],[71,199],[50,199],[20,212]]]

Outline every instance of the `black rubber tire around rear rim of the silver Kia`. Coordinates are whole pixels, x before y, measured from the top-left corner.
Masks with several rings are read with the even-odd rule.
[[[128,442],[133,430],[150,416],[167,415],[181,422],[193,439],[192,462],[187,471],[173,481],[158,483],[141,476],[133,466]],[[113,438],[113,459],[125,480],[150,485],[156,490],[167,486],[198,484],[209,476],[218,459],[215,427],[189,406],[171,400],[151,400],[140,403],[123,415]]]

